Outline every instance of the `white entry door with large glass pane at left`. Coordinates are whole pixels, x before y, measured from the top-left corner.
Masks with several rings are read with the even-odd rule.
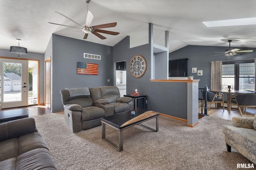
[[[28,106],[27,62],[0,58],[2,108]]]

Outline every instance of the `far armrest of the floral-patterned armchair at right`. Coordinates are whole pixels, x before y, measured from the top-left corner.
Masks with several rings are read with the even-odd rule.
[[[253,121],[254,117],[232,117],[232,124],[234,127],[253,129]]]

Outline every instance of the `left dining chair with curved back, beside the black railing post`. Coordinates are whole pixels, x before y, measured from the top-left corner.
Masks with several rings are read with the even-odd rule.
[[[203,90],[203,100],[205,101],[204,96],[205,96],[205,91]],[[217,103],[221,103],[224,111],[224,98],[222,93],[213,93],[213,92],[207,91],[207,101],[210,102],[210,106],[208,110],[210,110],[212,103],[215,103],[216,108],[218,108]],[[204,103],[205,102],[203,102],[203,105]]]

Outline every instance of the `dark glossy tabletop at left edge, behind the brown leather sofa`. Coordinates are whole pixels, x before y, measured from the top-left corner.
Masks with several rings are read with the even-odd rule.
[[[25,117],[28,117],[28,110],[26,108],[0,111],[0,123]]]

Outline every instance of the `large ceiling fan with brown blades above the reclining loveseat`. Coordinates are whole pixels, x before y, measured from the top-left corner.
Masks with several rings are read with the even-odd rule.
[[[88,4],[90,2],[90,0],[86,0],[86,3]],[[55,11],[56,12],[56,11]],[[58,14],[60,14],[59,12],[56,12]],[[60,14],[61,16],[64,16],[63,14]],[[51,24],[55,24],[55,25],[62,25],[62,26],[66,26],[66,27],[72,27],[72,28],[78,28],[80,29],[80,31],[83,31],[85,33],[84,35],[84,39],[87,39],[88,34],[92,33],[94,35],[96,35],[97,37],[99,37],[100,39],[106,39],[106,37],[104,37],[103,35],[99,34],[99,33],[105,33],[105,34],[110,34],[110,35],[118,35],[118,32],[114,32],[114,31],[107,31],[107,30],[103,30],[101,28],[109,28],[109,27],[115,27],[116,26],[116,22],[112,22],[112,23],[105,23],[105,24],[101,24],[101,25],[94,25],[94,26],[90,26],[92,23],[92,20],[94,18],[92,12],[90,10],[88,10],[87,12],[87,17],[86,17],[86,22],[84,25],[80,25],[79,23],[77,23],[76,21],[71,20],[70,18],[68,18],[67,16],[64,16],[65,18],[67,18],[68,20],[76,23],[77,25],[79,25],[80,27],[73,27],[73,26],[68,26],[68,25],[62,25],[59,23],[52,23],[49,22]]]

